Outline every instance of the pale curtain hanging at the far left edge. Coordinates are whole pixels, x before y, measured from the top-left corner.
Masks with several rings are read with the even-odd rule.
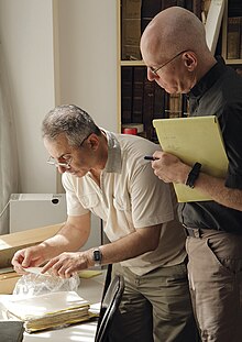
[[[7,67],[0,43],[0,234],[9,232],[9,199],[18,192],[18,148]]]

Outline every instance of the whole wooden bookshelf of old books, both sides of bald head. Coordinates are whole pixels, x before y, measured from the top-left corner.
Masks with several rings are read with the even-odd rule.
[[[217,26],[213,19],[211,27],[212,48],[219,45],[219,53],[227,64],[242,70],[242,19],[240,22],[240,57],[228,58],[228,45],[231,44],[231,34],[228,32],[230,18],[242,18],[241,0],[118,0],[118,126],[119,132],[129,125],[136,125],[138,133],[157,142],[153,119],[184,117],[187,103],[184,96],[170,96],[160,88],[156,82],[146,79],[146,67],[140,55],[140,36],[162,9],[170,5],[182,5],[194,11],[202,21],[208,19],[210,5],[222,3],[220,12],[216,10]],[[229,5],[228,5],[229,3]],[[184,5],[183,5],[184,4]],[[224,5],[224,9],[223,9]],[[212,14],[212,13],[211,13]],[[215,13],[213,13],[215,14]],[[220,24],[222,20],[222,27]],[[132,30],[131,30],[132,27]],[[216,37],[215,37],[216,35]],[[219,44],[218,38],[220,40]]]

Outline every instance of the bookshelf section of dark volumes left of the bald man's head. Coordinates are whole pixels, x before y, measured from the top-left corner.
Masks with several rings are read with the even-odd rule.
[[[169,96],[146,78],[141,59],[140,37],[147,23],[162,9],[176,5],[177,0],[118,1],[118,126],[136,126],[138,134],[157,142],[153,119],[183,115],[184,96]]]

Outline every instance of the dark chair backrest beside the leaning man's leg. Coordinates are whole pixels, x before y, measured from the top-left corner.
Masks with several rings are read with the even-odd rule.
[[[100,317],[95,337],[95,342],[108,342],[108,333],[116,311],[119,308],[124,290],[122,275],[116,275],[111,280],[101,302]]]

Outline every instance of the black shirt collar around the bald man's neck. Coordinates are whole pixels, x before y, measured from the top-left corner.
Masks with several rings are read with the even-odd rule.
[[[221,56],[216,57],[216,59],[217,63],[211,67],[211,69],[187,93],[189,97],[201,97],[221,76],[226,69],[226,63]]]

